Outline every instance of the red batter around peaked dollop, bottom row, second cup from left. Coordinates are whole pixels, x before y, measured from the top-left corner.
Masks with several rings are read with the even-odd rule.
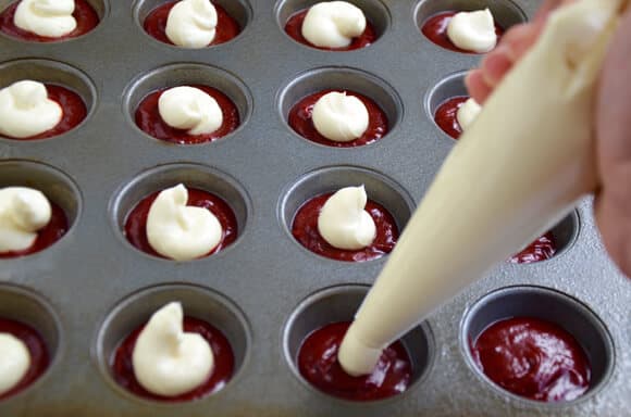
[[[140,326],[127,336],[116,349],[112,363],[112,370],[116,382],[134,394],[149,400],[164,402],[191,401],[221,390],[232,378],[234,372],[234,353],[225,336],[206,321],[193,317],[184,317],[184,331],[201,334],[210,343],[210,349],[214,355],[214,368],[206,382],[185,394],[161,396],[148,392],[136,379],[132,361],[136,340],[144,328],[145,326]]]

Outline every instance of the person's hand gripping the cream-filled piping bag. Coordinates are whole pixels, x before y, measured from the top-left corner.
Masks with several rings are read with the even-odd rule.
[[[469,93],[484,103],[515,63],[541,34],[547,16],[573,0],[547,0],[535,18],[512,27],[480,68],[466,79]],[[622,273],[631,277],[631,7],[622,15],[605,60],[594,109],[596,152],[601,188],[594,210],[607,251]]]

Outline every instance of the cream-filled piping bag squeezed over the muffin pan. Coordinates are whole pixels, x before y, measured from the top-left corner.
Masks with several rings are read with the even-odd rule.
[[[594,108],[607,47],[629,0],[579,0],[486,101],[445,160],[338,351],[352,376],[596,189]]]

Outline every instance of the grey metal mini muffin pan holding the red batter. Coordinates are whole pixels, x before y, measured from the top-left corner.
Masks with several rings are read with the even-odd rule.
[[[379,39],[351,52],[309,48],[283,31],[289,15],[314,1],[216,1],[243,31],[200,50],[145,34],[141,20],[163,0],[90,1],[101,23],[67,41],[26,42],[0,34],[0,88],[22,78],[60,84],[88,108],[87,118],[59,137],[0,138],[0,186],[40,189],[71,225],[45,251],[0,260],[0,316],[36,328],[51,355],[38,381],[0,402],[0,415],[628,415],[631,282],[607,257],[591,199],[554,228],[560,249],[555,257],[498,265],[403,339],[415,366],[406,393],[352,403],[317,391],[296,370],[301,339],[351,319],[387,260],[345,263],[309,252],[290,233],[296,210],[317,194],[364,184],[369,198],[404,228],[455,144],[432,113],[466,92],[463,72],[480,59],[441,49],[419,25],[443,10],[488,7],[510,26],[532,16],[539,1],[352,0]],[[11,2],[0,0],[0,10]],[[227,94],[239,111],[239,128],[211,143],[177,146],[136,127],[133,114],[143,97],[185,84]],[[388,117],[388,134],[350,149],[296,135],[287,124],[292,105],[329,88],[374,100]],[[239,228],[232,245],[176,263],[126,241],[122,225],[129,210],[180,182],[231,205]],[[227,386],[188,403],[135,396],[116,384],[109,367],[116,344],[172,300],[222,330],[235,354]],[[512,315],[553,320],[577,338],[593,370],[583,397],[567,404],[523,400],[480,374],[467,340]]]

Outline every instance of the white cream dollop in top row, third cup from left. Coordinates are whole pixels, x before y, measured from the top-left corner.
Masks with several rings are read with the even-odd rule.
[[[366,29],[361,9],[346,1],[312,5],[302,22],[302,36],[319,48],[345,48]]]

